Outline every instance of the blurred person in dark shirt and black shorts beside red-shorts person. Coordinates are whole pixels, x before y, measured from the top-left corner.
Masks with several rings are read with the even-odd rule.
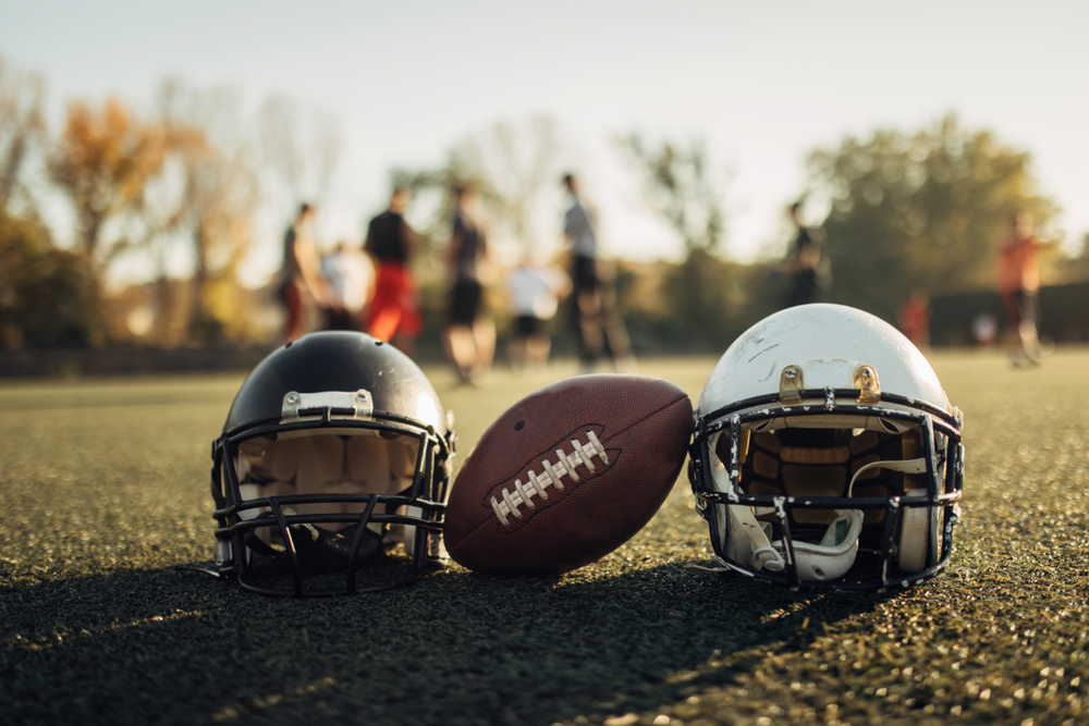
[[[445,249],[450,304],[443,343],[458,378],[474,384],[488,373],[495,356],[495,325],[485,311],[481,281],[488,238],[476,187],[457,187],[454,198],[454,219]]]

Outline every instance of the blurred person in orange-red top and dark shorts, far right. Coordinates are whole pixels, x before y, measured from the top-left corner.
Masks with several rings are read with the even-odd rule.
[[[1010,318],[1010,360],[1040,362],[1040,251],[1045,247],[1032,234],[1032,217],[1019,212],[999,243],[999,293]]]

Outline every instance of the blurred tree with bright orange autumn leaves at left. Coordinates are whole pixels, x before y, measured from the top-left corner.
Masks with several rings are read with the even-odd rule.
[[[144,202],[149,180],[162,168],[167,141],[160,125],[142,123],[117,98],[98,109],[82,101],[69,104],[49,172],[75,208],[77,247],[99,276],[118,255],[147,242],[148,234],[131,229],[107,237],[107,225],[139,221],[125,217]]]

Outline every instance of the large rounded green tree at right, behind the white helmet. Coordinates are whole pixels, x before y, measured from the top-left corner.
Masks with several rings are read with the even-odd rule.
[[[809,157],[824,222],[832,302],[886,320],[913,290],[990,286],[994,246],[1018,211],[1045,227],[1055,205],[1036,192],[1031,158],[955,116],[918,132],[878,131]]]

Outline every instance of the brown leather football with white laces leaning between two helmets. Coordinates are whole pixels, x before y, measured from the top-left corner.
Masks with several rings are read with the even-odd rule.
[[[692,439],[692,403],[648,376],[579,376],[523,398],[469,453],[444,540],[489,575],[559,575],[609,554],[650,521]]]

